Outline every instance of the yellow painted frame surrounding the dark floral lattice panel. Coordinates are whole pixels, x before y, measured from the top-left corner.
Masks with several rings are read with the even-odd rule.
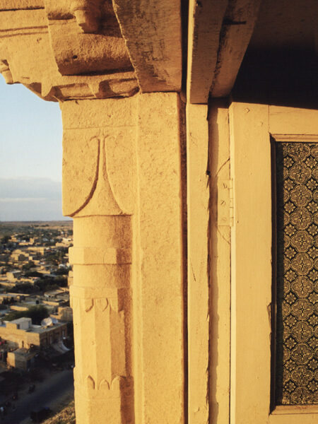
[[[231,231],[231,389],[233,424],[314,424],[318,406],[271,410],[271,135],[313,139],[318,111],[232,102],[234,221]],[[318,137],[318,136],[317,136]]]

